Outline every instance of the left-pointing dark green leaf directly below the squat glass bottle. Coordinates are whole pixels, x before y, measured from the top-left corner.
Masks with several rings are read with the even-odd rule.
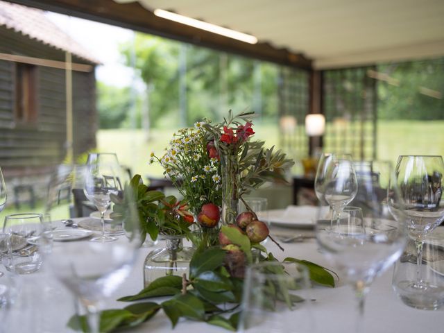
[[[161,296],[173,296],[180,293],[182,289],[182,278],[176,275],[164,276],[151,282],[148,287],[132,296],[119,298],[121,302],[131,302],[133,300],[142,300],[144,298],[153,298]]]

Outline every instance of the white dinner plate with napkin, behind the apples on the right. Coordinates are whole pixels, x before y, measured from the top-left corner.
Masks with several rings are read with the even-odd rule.
[[[328,207],[322,207],[322,213],[328,212]],[[317,206],[289,206],[284,210],[268,210],[257,212],[258,219],[268,221],[273,225],[290,228],[313,228],[319,214]]]

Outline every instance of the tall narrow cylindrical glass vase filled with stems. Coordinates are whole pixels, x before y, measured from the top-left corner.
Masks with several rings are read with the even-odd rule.
[[[239,161],[237,154],[221,154],[222,223],[236,223],[239,205]]]

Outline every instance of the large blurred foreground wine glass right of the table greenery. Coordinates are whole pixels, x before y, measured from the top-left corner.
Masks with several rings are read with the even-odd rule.
[[[350,207],[346,207],[336,220],[334,232],[323,220],[317,221],[316,238],[323,254],[334,262],[355,291],[359,332],[370,284],[400,257],[407,226],[403,214],[392,214],[389,208],[401,200],[391,165],[361,163],[357,170],[359,197],[353,205],[362,212],[362,219],[359,214],[347,212]]]

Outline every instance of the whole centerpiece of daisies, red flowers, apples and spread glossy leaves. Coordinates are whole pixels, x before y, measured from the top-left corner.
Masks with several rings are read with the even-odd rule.
[[[222,205],[223,225],[218,235],[219,244],[210,248],[199,246],[189,262],[187,273],[157,278],[139,293],[119,299],[137,303],[123,309],[103,311],[103,332],[140,325],[160,309],[169,317],[173,327],[180,318],[188,318],[228,330],[237,329],[246,266],[253,262],[278,261],[260,244],[268,237],[265,223],[258,221],[248,206],[247,212],[238,214],[238,201],[268,180],[283,179],[284,171],[293,164],[281,151],[266,149],[264,142],[251,139],[255,134],[251,115],[242,113],[234,117],[230,112],[222,123],[212,124],[208,120],[196,123],[195,128],[179,130],[173,135],[167,153],[162,157],[151,154],[151,162],[162,164],[165,176],[178,187],[184,202],[164,202],[159,192],[148,191],[139,184],[139,178],[133,179],[139,213],[146,218],[142,222],[144,230],[151,237],[157,236],[158,232],[187,233],[189,224],[185,223],[191,223],[189,207],[197,214],[201,228],[208,231],[218,224],[219,205]],[[155,200],[157,203],[153,203]],[[162,213],[164,209],[166,211]],[[162,214],[178,214],[183,223],[170,228],[169,222],[158,220]],[[334,287],[334,278],[325,268],[291,257],[284,261],[307,266],[313,283]],[[287,274],[284,268],[274,273]],[[284,295],[279,288],[273,287],[270,292],[272,302],[282,301]],[[159,297],[167,297],[167,300],[146,301]],[[291,308],[293,300],[284,299]],[[76,321],[73,318],[70,326],[85,330],[85,317],[76,318]]]

